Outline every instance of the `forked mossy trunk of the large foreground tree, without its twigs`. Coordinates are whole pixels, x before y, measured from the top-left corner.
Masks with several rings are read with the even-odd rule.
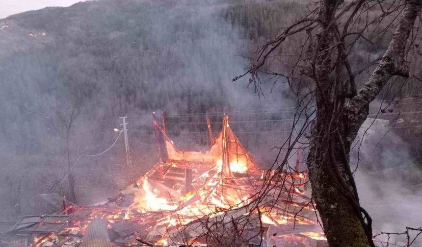
[[[308,155],[309,178],[324,232],[330,247],[373,246],[370,222],[362,209],[349,166],[350,147],[369,113],[369,103],[394,75],[408,76],[404,62],[406,41],[417,16],[421,0],[407,0],[389,48],[368,82],[343,106],[331,74],[330,47],[334,45],[331,26],[342,1],[321,0],[322,20],[316,46],[313,78],[316,81],[317,118],[312,126]],[[370,219],[366,219],[370,221]]]

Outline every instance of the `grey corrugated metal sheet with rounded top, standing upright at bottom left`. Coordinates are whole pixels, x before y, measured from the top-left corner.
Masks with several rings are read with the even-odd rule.
[[[89,223],[80,247],[110,247],[105,219],[95,218]]]

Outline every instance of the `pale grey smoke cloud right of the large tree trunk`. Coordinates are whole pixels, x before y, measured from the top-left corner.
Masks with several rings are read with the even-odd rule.
[[[422,173],[410,154],[410,144],[396,134],[388,120],[368,119],[358,138],[362,147],[355,179],[360,203],[373,220],[373,233],[401,233],[406,226],[421,227]],[[357,157],[358,146],[351,153],[353,164],[357,164]],[[386,235],[376,238],[387,239]],[[390,244],[394,243],[405,244],[405,236],[392,235]]]

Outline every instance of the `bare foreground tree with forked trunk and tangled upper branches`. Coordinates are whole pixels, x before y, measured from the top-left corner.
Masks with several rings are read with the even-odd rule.
[[[302,104],[302,100],[307,97],[310,98],[309,102],[316,99],[316,119],[312,123],[307,165],[313,199],[330,247],[374,246],[371,219],[359,204],[349,166],[350,148],[358,130],[368,117],[369,103],[377,97],[391,77],[409,77],[405,62],[406,43],[415,20],[421,13],[422,0],[388,1],[385,4],[393,7],[391,12],[382,9],[384,3],[377,4],[383,14],[371,22],[367,20],[367,24],[363,29],[358,29],[358,32],[349,32],[349,29],[353,29],[352,23],[361,17],[359,13],[369,13],[375,5],[365,0],[319,0],[315,10],[286,27],[273,40],[260,47],[257,50],[257,58],[245,73],[251,74],[249,82],[254,82],[256,88],[260,87],[259,75],[262,72],[284,76],[290,85],[297,82],[299,90],[296,95],[305,108],[307,104]],[[374,26],[376,30],[377,22],[383,21],[383,17],[394,12],[401,12],[401,17],[398,19],[390,45],[368,81],[356,92],[355,74],[348,62],[348,54],[357,39],[348,41],[345,37],[348,34],[360,35],[369,25]],[[342,32],[340,27],[343,27]],[[316,28],[319,28],[317,35],[314,32]],[[281,47],[286,38],[299,32],[306,33],[306,42],[310,43],[310,46],[307,51],[304,51],[305,44],[301,46],[300,55],[293,63],[290,76],[261,70],[271,53]],[[415,35],[416,33],[417,31]],[[344,71],[347,72],[348,81],[343,79]],[[236,76],[233,80],[245,74]],[[303,77],[310,77],[315,82],[315,89],[310,89],[309,94],[305,96],[300,94]]]

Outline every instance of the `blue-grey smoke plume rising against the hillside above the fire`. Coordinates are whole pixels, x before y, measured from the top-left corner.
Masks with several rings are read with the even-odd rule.
[[[216,101],[231,109],[290,106],[290,101],[279,97],[279,91],[270,94],[270,87],[264,87],[265,98],[258,98],[246,88],[247,77],[231,83],[232,78],[242,74],[248,66],[249,60],[245,57],[251,48],[248,36],[222,17],[225,6],[218,1],[166,2],[165,6],[159,4],[157,12],[149,16],[150,45],[157,47],[158,53],[160,47],[170,47],[168,54],[158,59],[159,65],[163,65],[159,69],[165,74],[165,83],[177,84],[192,94],[207,94],[211,97],[209,102]],[[163,58],[174,60],[171,65],[177,70],[169,73],[168,61],[162,61]],[[165,102],[161,109],[170,114],[201,112],[203,109],[198,106],[207,101],[185,101],[182,109],[174,109],[172,104]]]

